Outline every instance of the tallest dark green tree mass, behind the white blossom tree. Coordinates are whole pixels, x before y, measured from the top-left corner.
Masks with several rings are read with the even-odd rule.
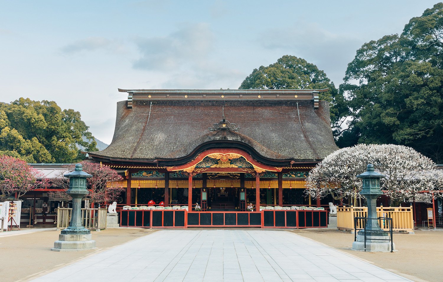
[[[355,135],[358,143],[408,145],[443,161],[443,3],[412,18],[402,34],[361,46],[344,81],[351,134],[339,146],[353,145],[346,139]]]

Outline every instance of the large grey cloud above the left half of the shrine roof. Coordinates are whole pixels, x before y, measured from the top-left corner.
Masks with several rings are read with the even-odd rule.
[[[214,36],[206,23],[187,25],[164,37],[138,38],[141,57],[135,69],[174,70],[195,67],[207,59],[213,48]]]

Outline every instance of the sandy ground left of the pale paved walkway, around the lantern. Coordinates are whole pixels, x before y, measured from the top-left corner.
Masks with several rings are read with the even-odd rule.
[[[95,251],[52,252],[60,231],[42,231],[30,234],[0,237],[1,282],[28,281],[47,272],[64,267],[89,255],[124,244],[155,230],[142,228],[107,229],[92,232],[97,242]]]

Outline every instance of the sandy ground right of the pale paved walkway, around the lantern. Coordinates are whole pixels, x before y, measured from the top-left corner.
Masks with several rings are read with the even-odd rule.
[[[398,252],[375,253],[352,251],[354,234],[330,229],[299,229],[296,234],[337,248],[358,258],[418,282],[443,281],[443,231],[394,232]]]

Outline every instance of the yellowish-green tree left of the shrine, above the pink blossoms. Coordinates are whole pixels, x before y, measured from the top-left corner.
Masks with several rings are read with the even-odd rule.
[[[88,129],[79,112],[62,111],[54,101],[20,98],[9,104],[0,103],[0,154],[29,163],[82,160],[77,145],[88,151],[97,150]]]

